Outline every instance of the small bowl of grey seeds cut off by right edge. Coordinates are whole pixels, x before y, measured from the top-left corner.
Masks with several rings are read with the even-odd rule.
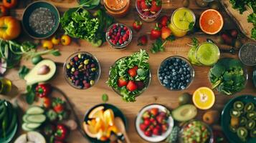
[[[256,65],[256,43],[243,44],[239,51],[239,58],[242,64],[247,66]]]

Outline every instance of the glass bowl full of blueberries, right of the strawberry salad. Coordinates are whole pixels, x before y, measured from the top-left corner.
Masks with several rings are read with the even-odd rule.
[[[171,91],[187,89],[194,79],[194,68],[182,56],[169,56],[158,68],[158,80]]]

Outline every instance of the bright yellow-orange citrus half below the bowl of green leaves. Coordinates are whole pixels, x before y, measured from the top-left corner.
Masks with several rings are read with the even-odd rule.
[[[200,87],[193,94],[193,102],[199,109],[210,109],[215,102],[214,92],[208,87]]]

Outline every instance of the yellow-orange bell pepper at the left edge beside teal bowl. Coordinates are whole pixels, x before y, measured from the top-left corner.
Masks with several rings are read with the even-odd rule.
[[[4,40],[15,39],[21,33],[19,21],[12,16],[0,18],[0,38]]]

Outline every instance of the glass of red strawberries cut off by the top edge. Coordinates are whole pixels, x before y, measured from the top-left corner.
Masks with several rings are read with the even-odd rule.
[[[136,9],[143,21],[154,21],[162,11],[162,1],[136,0]]]

